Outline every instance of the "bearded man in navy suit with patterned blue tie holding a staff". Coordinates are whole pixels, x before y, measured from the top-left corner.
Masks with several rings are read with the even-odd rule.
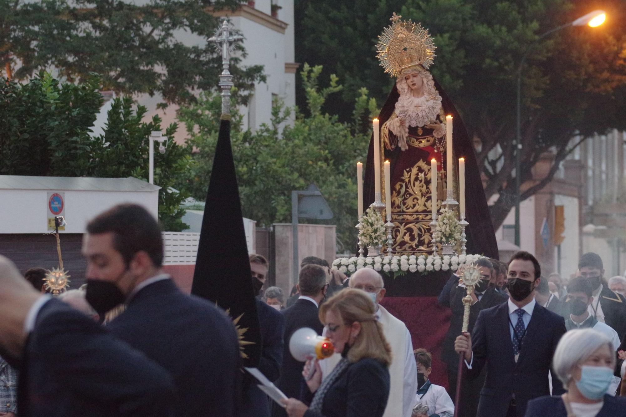
[[[548,372],[565,321],[535,301],[541,267],[528,252],[517,252],[508,264],[508,302],[478,314],[472,336],[456,338],[454,349],[465,356],[468,378],[487,366],[478,416],[523,417],[533,398],[550,395]],[[563,386],[552,373],[552,393]]]

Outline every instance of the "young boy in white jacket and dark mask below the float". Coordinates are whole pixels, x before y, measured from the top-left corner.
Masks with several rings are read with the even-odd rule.
[[[418,368],[418,392],[415,394],[415,405],[418,403],[428,406],[428,414],[413,414],[413,417],[452,417],[454,403],[441,385],[435,385],[428,380],[433,371],[433,358],[426,349],[413,351]]]

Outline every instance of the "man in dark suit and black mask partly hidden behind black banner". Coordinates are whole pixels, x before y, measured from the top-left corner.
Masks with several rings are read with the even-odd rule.
[[[250,270],[252,271],[252,287],[255,291],[261,292],[262,284],[268,270],[267,259],[262,255],[250,255]],[[259,285],[261,284],[261,285]],[[259,314],[259,324],[263,348],[259,361],[259,371],[267,379],[274,382],[280,376],[280,365],[283,354],[283,334],[285,332],[285,317],[279,311],[268,306],[263,301],[257,299],[257,312]],[[269,417],[272,404],[263,391],[257,387],[256,379],[249,377],[245,384],[244,401],[239,417]]]

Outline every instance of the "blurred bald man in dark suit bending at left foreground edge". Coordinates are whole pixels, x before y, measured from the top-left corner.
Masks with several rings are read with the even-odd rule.
[[[165,369],[34,290],[3,256],[0,288],[0,354],[20,372],[20,417],[174,415]]]

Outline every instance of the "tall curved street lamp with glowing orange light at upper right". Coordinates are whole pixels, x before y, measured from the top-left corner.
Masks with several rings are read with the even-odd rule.
[[[531,44],[526,52],[523,54],[520,60],[520,65],[517,68],[517,120],[516,120],[516,135],[515,135],[515,244],[520,246],[520,197],[521,197],[521,68],[526,62],[526,56],[533,49],[541,39],[545,38],[551,33],[560,31],[561,29],[568,28],[570,26],[585,26],[588,25],[592,28],[597,28],[607,19],[607,14],[602,10],[592,11],[585,14],[572,23],[563,24],[557,28],[550,29],[546,33],[542,34],[535,43]]]

